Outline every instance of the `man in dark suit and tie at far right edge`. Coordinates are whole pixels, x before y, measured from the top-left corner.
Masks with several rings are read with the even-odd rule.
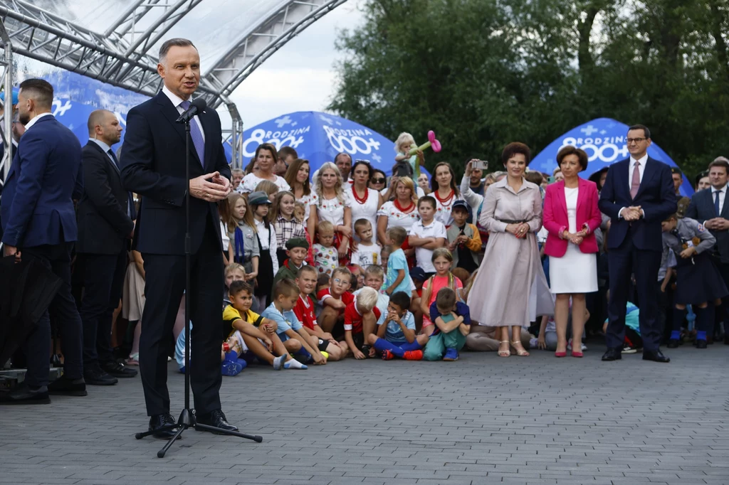
[[[717,157],[709,164],[709,184],[712,186],[693,194],[686,210],[686,217],[701,222],[717,238],[717,268],[726,285],[729,285],[729,203],[726,202],[728,181],[729,160]],[[727,304],[729,301],[724,302],[725,312]],[[724,343],[729,345],[729,332],[726,331]]]

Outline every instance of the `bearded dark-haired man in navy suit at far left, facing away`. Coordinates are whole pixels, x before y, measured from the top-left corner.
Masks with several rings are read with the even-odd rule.
[[[86,395],[81,357],[81,319],[71,296],[71,246],[76,240],[74,199],[83,190],[81,144],[51,114],[53,87],[42,79],[20,83],[19,119],[26,125],[2,194],[5,255],[36,259],[63,280],[50,304],[58,321],[63,376],[48,384],[48,312],[26,342],[28,371],[23,385],[4,403],[50,403],[48,394]]]

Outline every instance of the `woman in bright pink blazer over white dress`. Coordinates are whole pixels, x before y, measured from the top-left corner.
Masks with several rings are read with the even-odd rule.
[[[572,299],[572,357],[582,357],[585,293],[597,291],[597,241],[593,232],[602,221],[597,186],[578,175],[588,167],[585,151],[565,146],[557,154],[564,180],[547,186],[544,226],[549,256],[550,290],[555,293],[556,357],[567,354],[567,318]]]

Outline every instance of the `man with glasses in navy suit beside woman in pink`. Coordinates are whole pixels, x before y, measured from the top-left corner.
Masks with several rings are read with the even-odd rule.
[[[660,352],[658,280],[663,250],[660,223],[676,212],[677,200],[671,168],[647,154],[650,130],[643,125],[628,129],[629,159],[616,162],[607,171],[599,207],[610,217],[607,236],[610,301],[608,304],[607,352],[602,360],[619,360],[625,339],[625,305],[631,274],[636,279],[640,304],[643,360],[669,362]]]

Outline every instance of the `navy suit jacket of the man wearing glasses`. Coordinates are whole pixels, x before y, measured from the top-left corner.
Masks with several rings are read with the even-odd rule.
[[[631,230],[633,244],[644,251],[662,251],[660,223],[667,216],[676,212],[677,200],[674,184],[671,179],[671,168],[663,162],[648,157],[643,171],[643,180],[636,194],[631,197],[630,177],[628,170],[630,159],[621,160],[610,165],[607,178],[600,192],[598,202],[600,211],[610,217],[610,230],[607,235],[607,247],[615,249],[623,244],[623,240]],[[620,209],[639,205],[645,216],[638,221],[625,221],[618,218]]]

